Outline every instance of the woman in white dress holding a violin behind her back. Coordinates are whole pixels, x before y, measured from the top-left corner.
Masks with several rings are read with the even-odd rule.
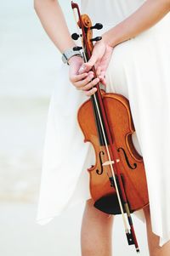
[[[93,86],[100,80],[107,84],[107,91],[123,94],[130,101],[149,189],[150,209],[144,208],[144,217],[150,256],[169,255],[170,1],[82,0],[82,13],[105,27],[88,64],[83,64],[79,53],[67,58],[68,49],[75,43],[59,3],[35,0],[35,9],[48,36],[69,64],[59,72],[59,84],[49,107],[38,223],[47,223],[71,204],[88,199],[82,219],[82,256],[111,255],[113,216],[108,218],[99,212],[89,199],[85,169],[94,163],[94,155],[91,145],[83,144],[77,126],[77,109],[86,100],[81,90],[88,96],[94,94]],[[98,72],[93,81],[92,65]],[[65,76],[68,69],[74,87]],[[133,140],[140,151],[137,137]],[[63,175],[65,179],[60,179]]]

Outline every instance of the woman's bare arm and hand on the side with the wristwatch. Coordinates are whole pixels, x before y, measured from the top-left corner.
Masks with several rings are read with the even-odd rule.
[[[75,46],[57,0],[34,0],[34,7],[48,37],[51,38],[61,53],[65,52],[66,49]],[[83,63],[82,58],[73,56],[68,62],[70,64],[69,77],[72,84],[77,89],[86,91],[91,89],[95,83],[99,82],[99,78],[96,78],[91,83],[91,80],[94,77],[92,71],[81,75],[78,74],[80,66]],[[90,91],[94,93],[96,89],[92,88]]]

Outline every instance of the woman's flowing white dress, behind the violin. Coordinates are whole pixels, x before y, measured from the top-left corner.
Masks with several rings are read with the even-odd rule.
[[[82,0],[82,14],[105,30],[115,26],[144,0]],[[94,11],[95,10],[95,11]],[[160,245],[170,239],[170,14],[155,26],[114,48],[107,70],[107,91],[130,101],[136,129],[133,140],[144,157],[152,230]],[[101,31],[99,31],[101,33]],[[65,208],[90,198],[88,172],[92,145],[83,143],[77,109],[87,98],[69,82],[62,65],[49,105],[43,151],[37,223],[46,224]],[[140,148],[139,148],[140,147]],[[141,149],[141,151],[140,151]]]

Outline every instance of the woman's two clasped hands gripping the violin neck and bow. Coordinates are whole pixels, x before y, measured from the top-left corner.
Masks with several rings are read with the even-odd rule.
[[[105,72],[111,60],[113,48],[103,40],[95,43],[93,54],[87,63],[82,58],[73,56],[69,60],[70,64],[70,80],[72,84],[79,90],[84,91],[87,96],[91,96],[97,90],[94,88],[99,81],[105,84]],[[98,78],[94,79],[94,72],[91,71],[95,66]]]

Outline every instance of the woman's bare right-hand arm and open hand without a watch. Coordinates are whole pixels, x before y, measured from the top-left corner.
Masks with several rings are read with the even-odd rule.
[[[81,73],[89,71],[93,65],[96,65],[98,73],[104,79],[105,71],[111,59],[111,48],[154,26],[169,11],[170,0],[148,0],[144,2],[127,19],[106,31],[100,42],[95,43],[92,57],[88,60],[88,63],[82,65]]]

